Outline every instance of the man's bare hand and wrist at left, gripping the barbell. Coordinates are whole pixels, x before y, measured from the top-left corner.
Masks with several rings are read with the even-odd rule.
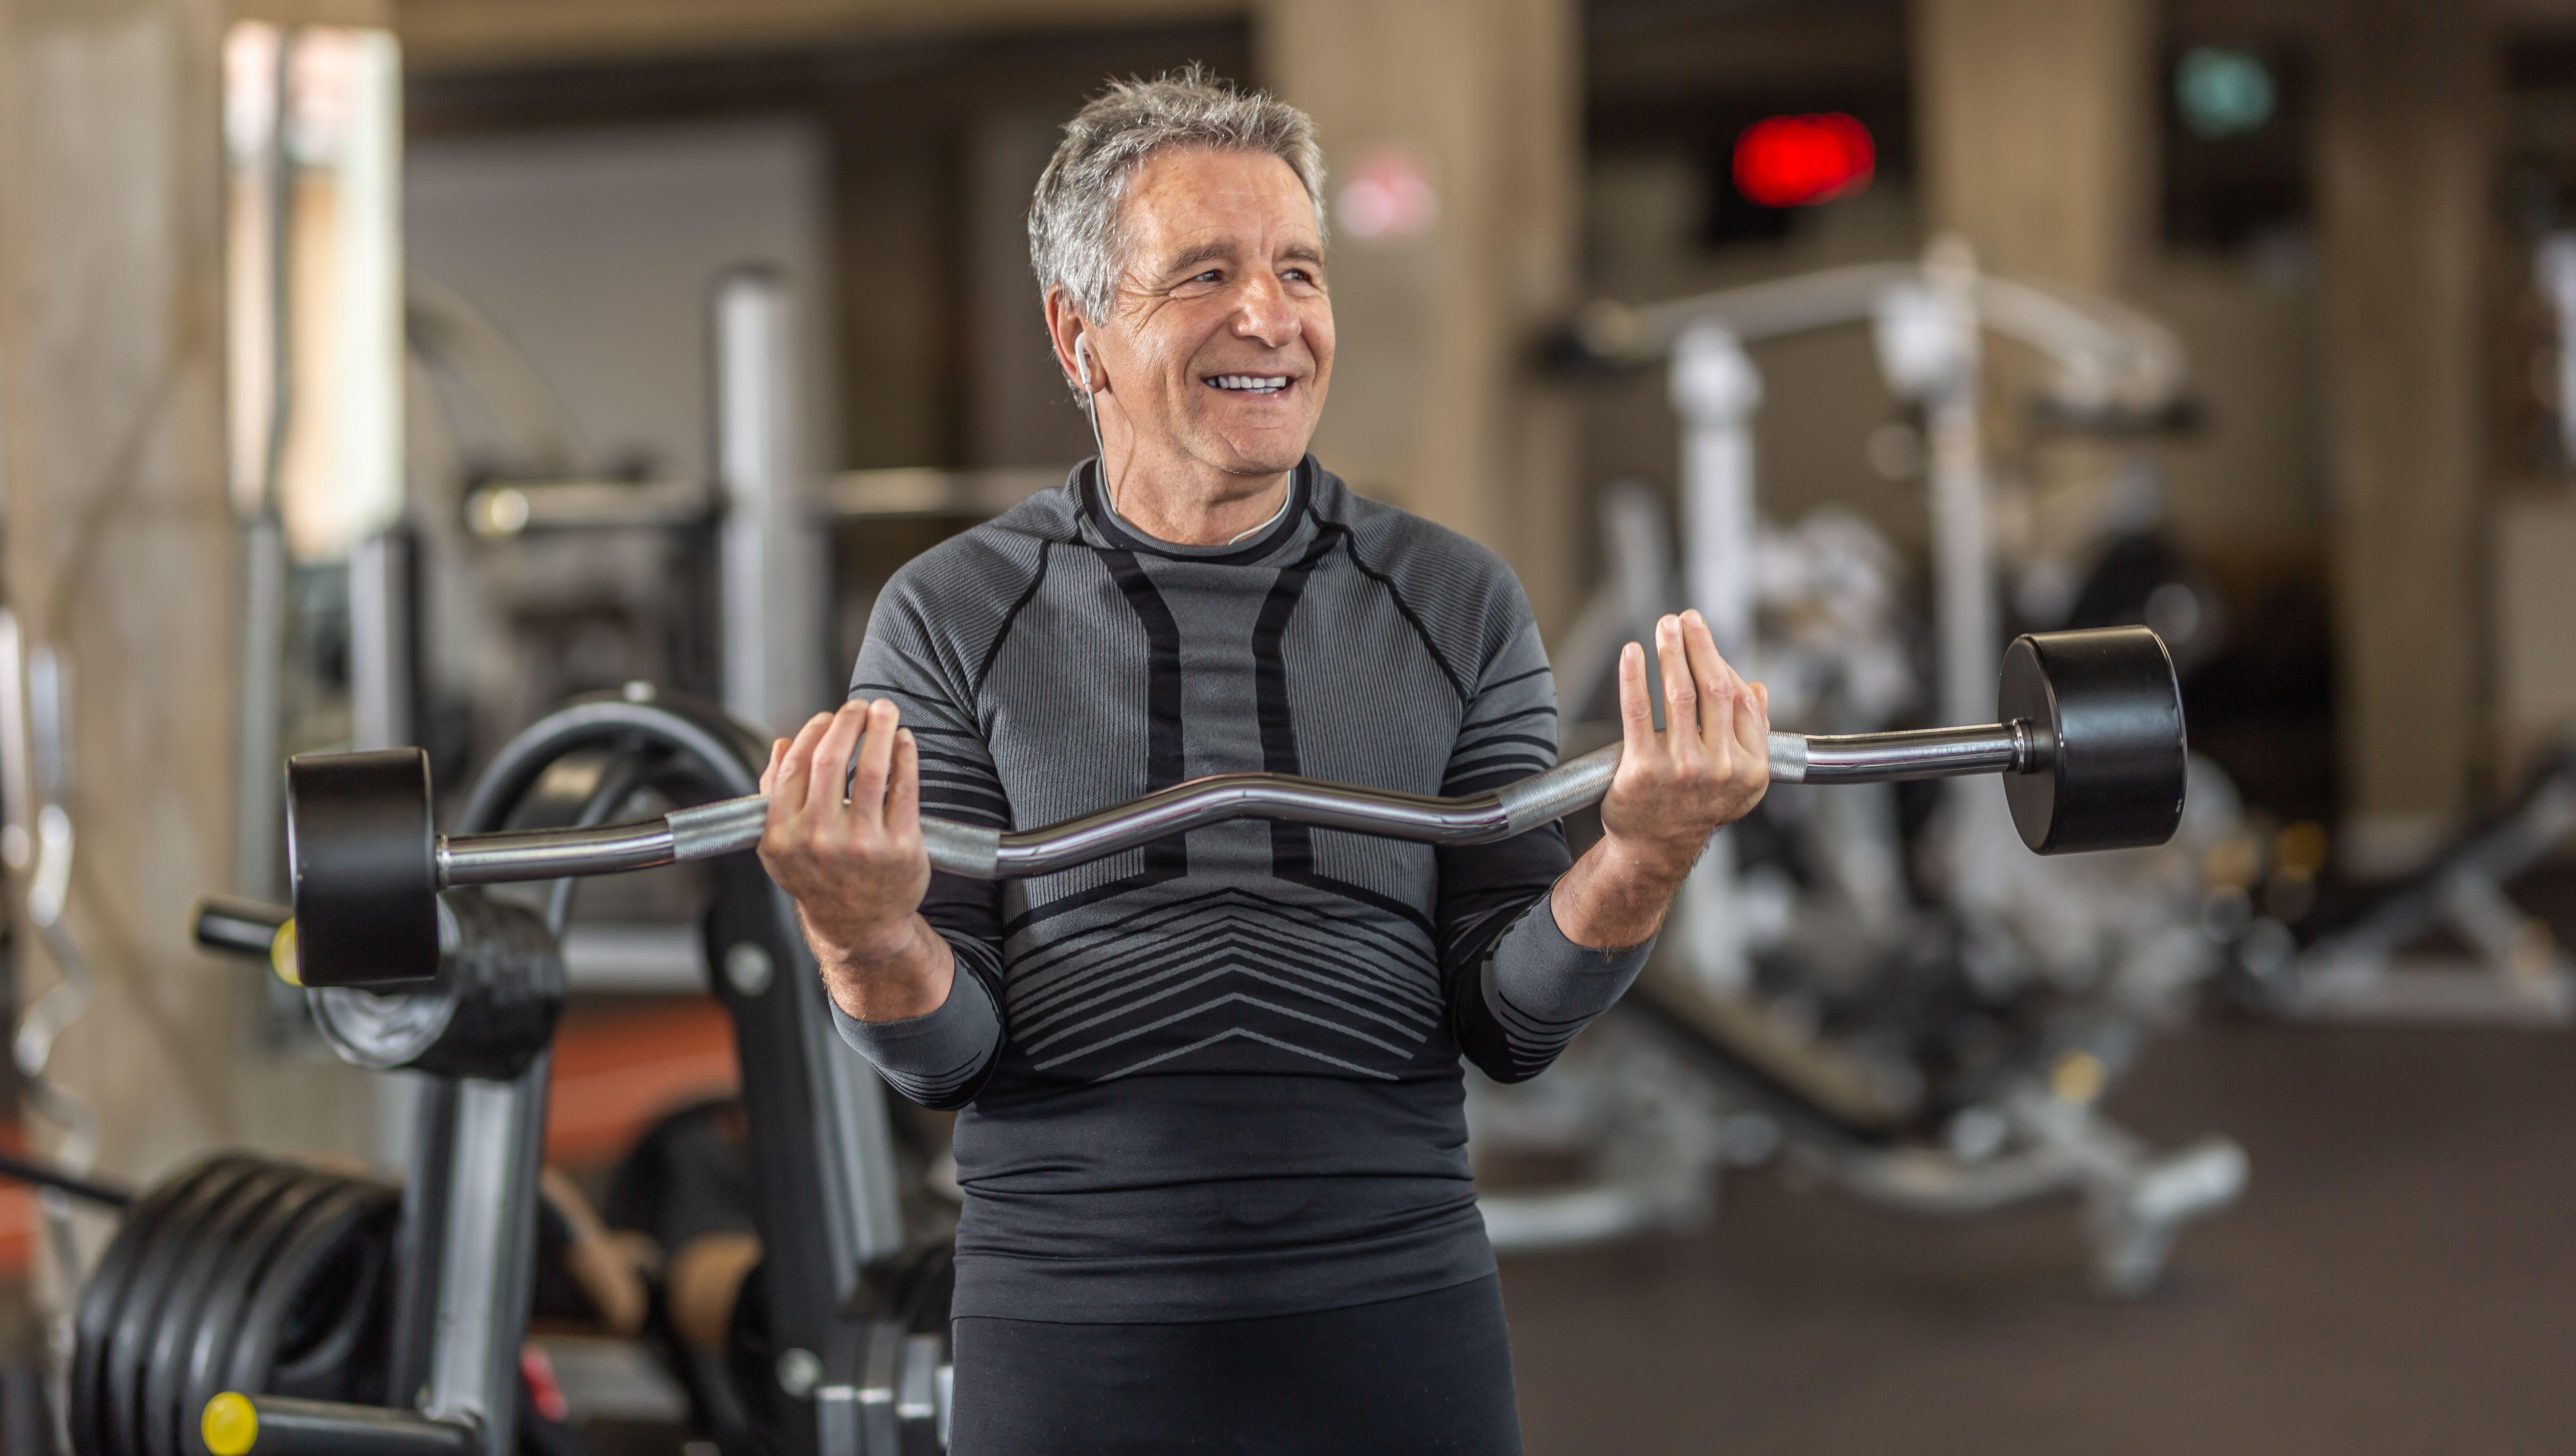
[[[860,1020],[925,1015],[948,1000],[948,946],[920,917],[930,889],[922,768],[891,701],[814,714],[770,745],[760,863],[796,902],[832,1000]]]

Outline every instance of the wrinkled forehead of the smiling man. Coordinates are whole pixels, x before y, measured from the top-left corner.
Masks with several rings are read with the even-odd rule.
[[[1211,250],[1321,253],[1316,201],[1270,152],[1167,147],[1128,175],[1118,242],[1131,268]]]

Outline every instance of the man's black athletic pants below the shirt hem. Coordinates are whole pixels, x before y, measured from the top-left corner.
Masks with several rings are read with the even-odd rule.
[[[961,1317],[951,1456],[1520,1456],[1494,1276],[1198,1325]]]

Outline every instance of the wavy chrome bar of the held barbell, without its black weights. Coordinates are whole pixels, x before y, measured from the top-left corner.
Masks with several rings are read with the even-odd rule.
[[[1770,771],[1772,783],[1880,783],[1888,778],[1950,778],[1960,773],[2027,773],[2045,763],[2045,734],[2022,722],[1852,737],[1775,732],[1770,734]],[[1597,804],[1610,791],[1618,760],[1620,745],[1610,745],[1504,783],[1502,789],[1461,799],[1360,789],[1288,773],[1216,773],[1043,830],[1005,832],[948,819],[922,819],[922,840],[927,840],[935,868],[966,879],[1054,874],[1229,819],[1316,825],[1430,845],[1481,845],[1507,840]],[[618,874],[729,856],[760,843],[765,817],[768,799],[752,794],[677,809],[665,819],[639,825],[440,835],[438,886]]]

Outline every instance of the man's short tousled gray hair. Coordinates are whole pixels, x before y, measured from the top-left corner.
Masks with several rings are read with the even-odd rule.
[[[1118,80],[1064,124],[1064,142],[1028,204],[1028,263],[1038,294],[1064,289],[1084,320],[1108,320],[1126,240],[1118,216],[1149,157],[1170,147],[1265,152],[1288,162],[1324,237],[1324,149],[1314,119],[1267,90],[1242,93],[1200,64]]]

